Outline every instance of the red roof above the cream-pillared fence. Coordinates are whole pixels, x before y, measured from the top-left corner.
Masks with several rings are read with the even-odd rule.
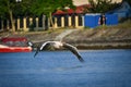
[[[88,5],[88,4],[79,5],[79,7],[76,7],[75,10],[73,10],[73,9],[68,9],[67,11],[58,10],[57,12],[53,13],[53,15],[73,14],[73,13],[76,13],[76,14],[84,13],[84,8],[85,8],[85,7],[90,7],[90,5]]]

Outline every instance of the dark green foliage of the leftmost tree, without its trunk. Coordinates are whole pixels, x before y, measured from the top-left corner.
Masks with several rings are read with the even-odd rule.
[[[19,1],[19,0],[17,0]],[[29,14],[29,8],[33,0],[0,0],[0,15],[9,14],[12,11],[13,16]]]

